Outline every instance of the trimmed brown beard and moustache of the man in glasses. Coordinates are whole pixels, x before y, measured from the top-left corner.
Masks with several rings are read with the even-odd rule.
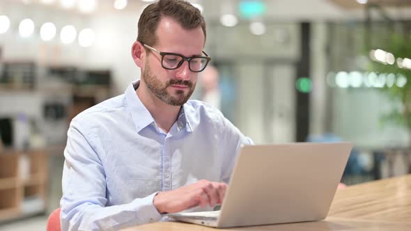
[[[148,90],[150,90],[155,97],[171,106],[182,106],[185,104],[196,87],[196,85],[191,81],[183,79],[169,79],[169,81],[163,84],[160,79],[157,79],[157,77],[155,77],[155,75],[151,72],[148,62],[146,62],[146,69],[144,70],[141,78],[144,80],[144,83],[146,83]],[[187,86],[189,90],[185,93],[185,90],[176,89],[173,90],[173,93],[169,94],[167,92],[167,88],[174,84]]]

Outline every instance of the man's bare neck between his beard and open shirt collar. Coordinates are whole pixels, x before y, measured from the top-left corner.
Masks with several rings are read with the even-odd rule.
[[[151,116],[153,116],[157,126],[163,129],[164,132],[169,133],[178,118],[181,106],[171,106],[162,102],[162,100],[153,95],[146,86],[141,86],[141,83],[136,93],[141,103],[146,106],[146,109],[150,112]]]

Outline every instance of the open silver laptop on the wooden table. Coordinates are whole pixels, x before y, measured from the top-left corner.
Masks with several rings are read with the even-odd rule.
[[[221,210],[168,216],[214,228],[323,220],[351,149],[351,143],[245,145]]]

